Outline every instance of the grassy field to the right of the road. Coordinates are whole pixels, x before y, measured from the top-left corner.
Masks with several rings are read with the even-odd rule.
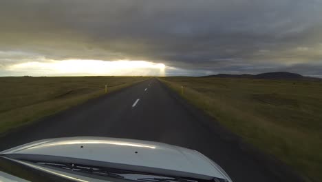
[[[322,82],[164,77],[173,90],[299,174],[322,181]]]

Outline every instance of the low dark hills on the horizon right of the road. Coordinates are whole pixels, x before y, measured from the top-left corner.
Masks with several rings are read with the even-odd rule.
[[[215,78],[240,78],[240,79],[300,79],[300,80],[311,80],[316,81],[322,79],[314,77],[304,77],[301,74],[292,72],[266,72],[261,74],[215,74],[204,77],[215,77]]]

